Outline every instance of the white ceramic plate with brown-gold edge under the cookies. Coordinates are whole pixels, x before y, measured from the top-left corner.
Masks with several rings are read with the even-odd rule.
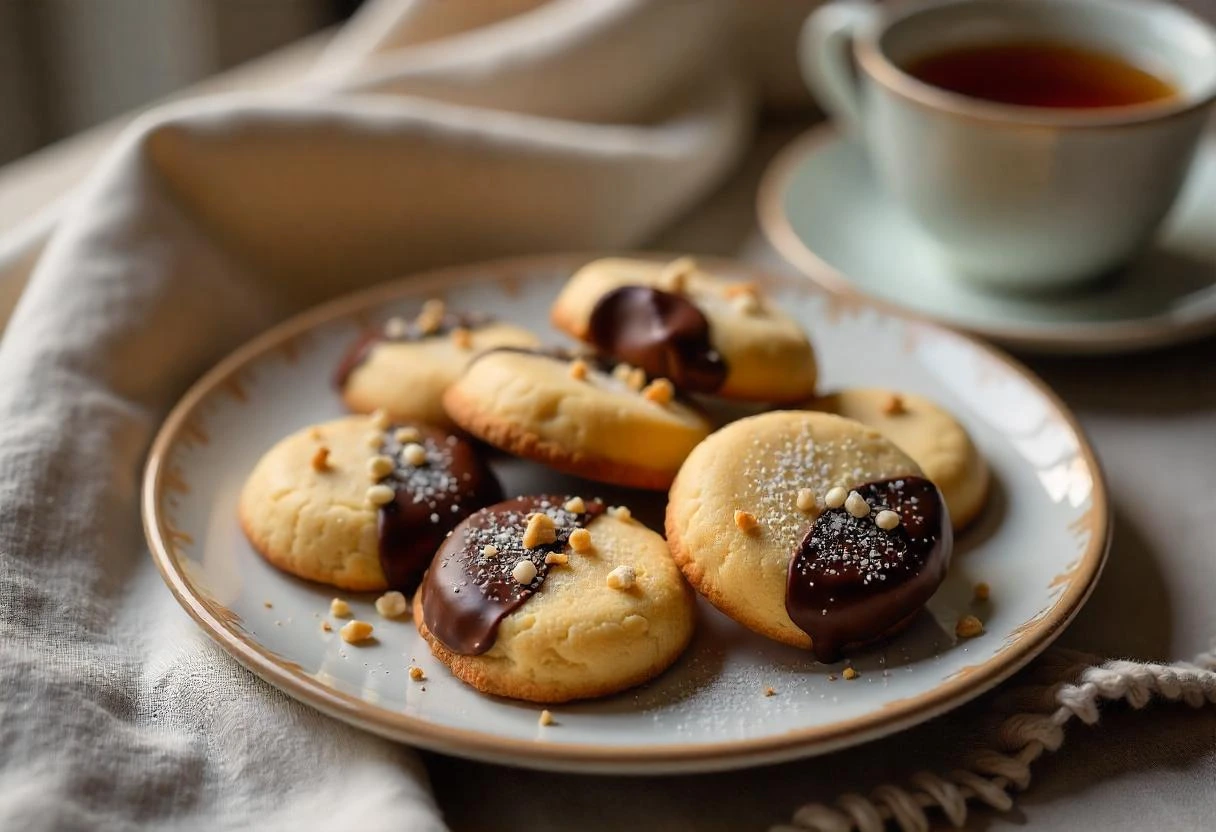
[[[950,578],[907,633],[854,658],[861,676],[833,680],[799,651],[755,636],[700,605],[698,635],[655,681],[615,697],[539,708],[482,696],[433,660],[413,626],[353,598],[378,642],[322,633],[332,589],[266,564],[236,522],[257,459],[285,434],[343,412],[330,378],[368,321],[412,314],[443,296],[548,331],[561,282],[590,255],[503,260],[411,277],[288,321],[207,373],[169,416],[148,460],[143,512],[153,557],[198,624],[250,670],[338,719],[451,754],[563,771],[702,771],[817,754],[897,731],[992,687],[1042,651],[1076,614],[1107,553],[1100,472],[1071,415],[1009,359],[930,325],[833,299],[801,280],[754,274],[812,333],[826,386],[923,393],[957,414],[996,476]],[[516,460],[497,463],[508,491],[601,494],[662,528],[662,495],[621,491]],[[992,600],[974,607],[973,585]],[[272,606],[265,606],[265,602]],[[956,642],[963,612],[986,633]],[[406,668],[421,664],[424,682]],[[766,687],[775,696],[764,695]]]

